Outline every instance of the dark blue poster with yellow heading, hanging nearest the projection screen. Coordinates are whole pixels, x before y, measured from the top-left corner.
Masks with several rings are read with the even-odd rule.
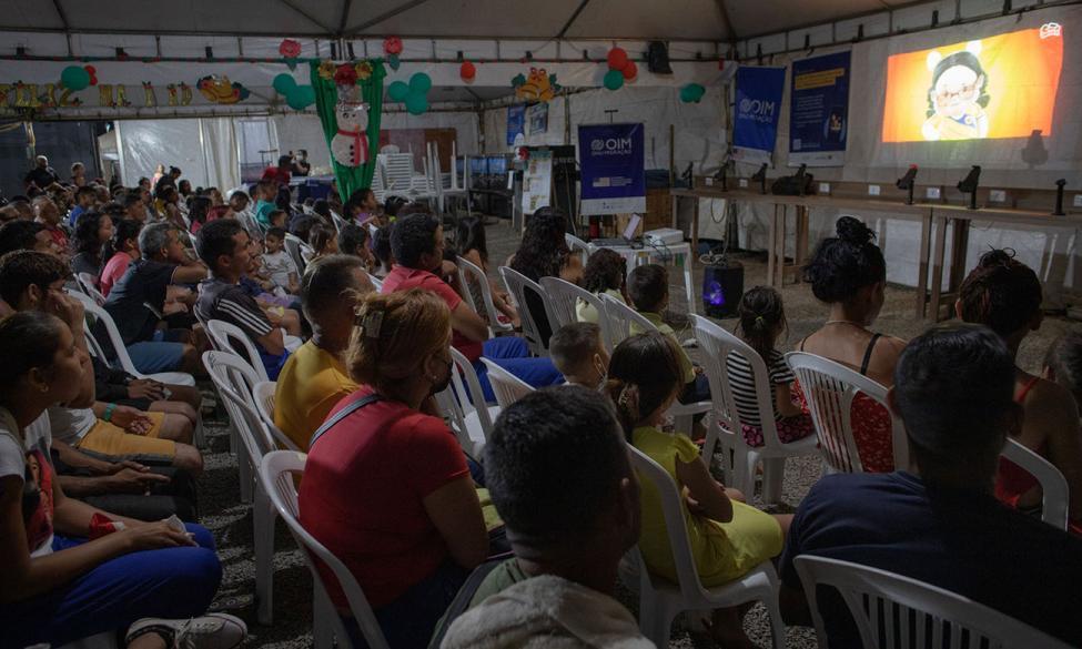
[[[841,166],[846,162],[850,77],[850,52],[792,62],[790,166]]]

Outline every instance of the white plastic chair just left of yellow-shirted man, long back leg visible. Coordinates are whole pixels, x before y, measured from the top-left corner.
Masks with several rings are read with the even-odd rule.
[[[204,353],[203,365],[222,396],[230,424],[240,438],[236,464],[241,501],[254,500],[256,615],[261,623],[270,625],[273,620],[274,511],[266,494],[259,487],[257,471],[263,457],[277,446],[252,403],[250,391],[259,383],[252,368],[240,356],[226,352]]]

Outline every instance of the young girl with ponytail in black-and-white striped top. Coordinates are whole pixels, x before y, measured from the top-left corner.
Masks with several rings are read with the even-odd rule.
[[[729,386],[740,413],[740,426],[748,446],[762,446],[762,417],[772,417],[782,444],[803,439],[815,432],[811,416],[792,402],[792,384],[796,377],[785,355],[776,347],[786,332],[786,312],[781,295],[769,286],[756,286],[740,298],[737,305],[737,335],[751,346],[767,366],[770,379],[772,413],[760,413],[756,394],[755,372],[751,362],[739,352],[726,358]]]

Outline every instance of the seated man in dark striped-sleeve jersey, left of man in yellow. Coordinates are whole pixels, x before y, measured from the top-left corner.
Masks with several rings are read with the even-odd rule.
[[[195,249],[211,270],[211,278],[199,285],[195,313],[202,322],[221,320],[240,327],[260,352],[267,376],[275,381],[289,357],[285,334],[240,286],[251,265],[250,245],[247,232],[234,219],[211,221],[200,229]]]

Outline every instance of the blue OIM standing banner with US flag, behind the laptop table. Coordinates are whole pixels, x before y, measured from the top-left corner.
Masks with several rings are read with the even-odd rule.
[[[646,144],[643,124],[578,128],[583,214],[646,211]]]

